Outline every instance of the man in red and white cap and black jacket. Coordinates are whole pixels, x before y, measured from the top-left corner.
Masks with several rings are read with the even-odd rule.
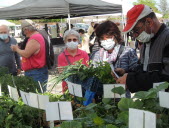
[[[169,81],[169,28],[161,24],[147,5],[135,5],[127,13],[123,32],[131,32],[143,43],[141,65],[117,79],[131,92],[147,91],[153,83]]]

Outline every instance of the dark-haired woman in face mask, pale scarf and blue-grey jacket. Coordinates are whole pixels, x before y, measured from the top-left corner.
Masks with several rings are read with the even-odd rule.
[[[133,71],[137,66],[138,57],[134,49],[122,45],[121,32],[117,25],[111,21],[105,21],[96,29],[100,50],[94,54],[93,64],[97,62],[109,62],[114,65],[119,76]],[[127,93],[127,97],[130,94]]]

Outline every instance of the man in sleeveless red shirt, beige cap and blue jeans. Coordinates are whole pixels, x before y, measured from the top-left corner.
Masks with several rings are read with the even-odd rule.
[[[25,71],[25,76],[45,83],[48,80],[45,40],[36,30],[36,24],[33,21],[22,20],[21,28],[23,34],[29,38],[26,47],[21,50],[17,45],[12,45],[11,49],[22,56],[22,69]],[[46,86],[43,89],[46,91]]]

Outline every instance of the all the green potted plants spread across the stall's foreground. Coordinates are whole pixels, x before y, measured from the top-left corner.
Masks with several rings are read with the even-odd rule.
[[[3,69],[4,70],[4,69]],[[5,71],[4,71],[5,72]],[[101,83],[114,83],[111,76],[111,68],[108,63],[86,67],[78,62],[76,65],[66,66],[64,72],[54,78],[56,83],[69,78],[72,75],[78,76],[78,79],[85,81],[88,78],[96,77]],[[23,79],[23,80],[19,80]],[[15,81],[15,84],[14,84]],[[15,102],[9,98],[7,85],[17,86],[18,89],[25,92],[37,92],[37,85],[31,82],[30,78],[12,77],[0,72],[0,83],[6,94],[0,96],[0,128],[40,128],[49,127],[44,119],[44,111],[24,105],[19,100]],[[136,85],[137,86],[137,85]],[[157,114],[157,128],[169,127],[169,109],[162,108],[159,105],[158,92],[169,87],[169,83],[164,83],[149,91],[140,91],[135,93],[133,98],[102,99],[102,102],[91,103],[88,106],[73,106],[73,121],[63,121],[56,128],[128,128],[129,108],[136,108],[151,111]],[[3,91],[3,89],[2,89]],[[112,90],[119,95],[125,93],[122,87]],[[54,101],[72,101],[73,97],[66,93],[64,95],[55,95],[49,92],[50,102]],[[83,98],[82,98],[83,100]]]

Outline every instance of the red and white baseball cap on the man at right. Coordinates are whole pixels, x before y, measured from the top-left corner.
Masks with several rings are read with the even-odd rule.
[[[127,33],[131,31],[140,19],[144,18],[151,12],[153,12],[153,10],[147,5],[135,5],[127,12],[127,24],[124,27],[123,32]]]

